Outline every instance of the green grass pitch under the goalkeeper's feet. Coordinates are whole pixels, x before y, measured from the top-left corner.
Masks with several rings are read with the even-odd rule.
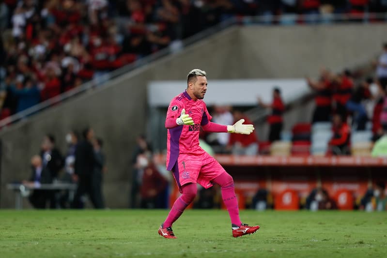
[[[0,257],[387,257],[386,212],[241,211],[259,224],[232,238],[226,211],[188,210],[157,235],[168,211],[0,211]]]

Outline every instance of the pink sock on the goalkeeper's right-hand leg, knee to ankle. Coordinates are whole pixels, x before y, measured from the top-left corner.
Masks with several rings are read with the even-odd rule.
[[[242,222],[239,218],[238,200],[235,196],[234,181],[232,180],[232,176],[228,173],[223,173],[214,179],[213,182],[220,185],[223,202],[229,212],[231,223],[238,227],[241,226]]]

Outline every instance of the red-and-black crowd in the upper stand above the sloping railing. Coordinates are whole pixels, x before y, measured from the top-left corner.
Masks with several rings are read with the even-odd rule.
[[[383,0],[3,0],[0,120],[232,16],[386,11]]]

